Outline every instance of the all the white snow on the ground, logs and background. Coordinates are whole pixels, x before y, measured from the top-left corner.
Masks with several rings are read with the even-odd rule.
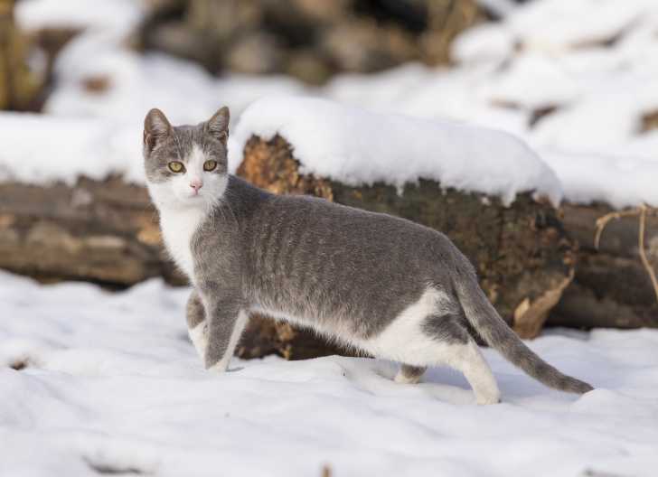
[[[130,51],[126,34],[146,3],[17,3],[27,30],[86,31],[57,61],[46,115],[0,113],[0,180],[121,172],[141,182],[149,108],[181,124],[228,104],[237,123],[232,167],[250,132],[284,129],[305,166],[349,181],[399,183],[423,173],[508,198],[533,187],[555,199],[561,188],[572,201],[658,205],[658,132],[640,132],[641,117],[658,109],[655,0],[486,0],[505,18],[464,33],[456,66],[405,65],[322,89],[286,78],[215,79],[186,61]],[[84,88],[99,78],[108,79],[106,91]],[[321,102],[308,111],[311,102],[266,99],[241,122],[258,98],[291,94],[346,107]],[[260,117],[265,110],[280,117]],[[540,160],[505,154],[518,145],[513,139],[489,147],[474,139],[474,163],[464,169],[457,146],[469,142],[448,134],[457,126],[442,129],[446,136],[422,132],[446,120],[512,133]],[[331,142],[332,131],[341,143]],[[377,157],[367,155],[372,145]],[[334,477],[658,473],[658,331],[558,330],[531,341],[597,388],[582,397],[544,388],[486,350],[503,403],[478,407],[448,369],[405,386],[381,360],[270,357],[210,375],[187,339],[187,293],[149,281],[110,294],[0,272],[0,476],[319,476],[325,465]]]

